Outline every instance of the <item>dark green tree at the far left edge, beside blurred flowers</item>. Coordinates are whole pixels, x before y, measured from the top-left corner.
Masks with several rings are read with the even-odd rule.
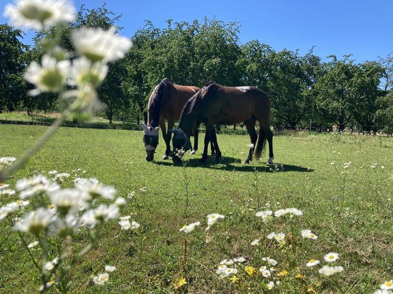
[[[26,96],[26,82],[23,72],[29,46],[24,45],[18,38],[23,32],[11,26],[0,25],[0,110],[7,108],[13,111]]]

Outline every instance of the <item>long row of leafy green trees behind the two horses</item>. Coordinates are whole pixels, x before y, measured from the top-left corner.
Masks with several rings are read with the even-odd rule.
[[[21,40],[23,32],[0,25],[0,110],[56,111],[54,95],[28,97],[23,73],[28,62],[42,57],[38,44],[61,40],[73,52],[71,29],[100,27],[108,30],[122,15],[105,8],[81,6],[69,27],[53,29],[48,36],[37,32],[30,49]],[[116,31],[122,28],[116,27]],[[151,91],[167,77],[180,85],[203,87],[214,81],[225,86],[255,86],[272,101],[272,124],[296,128],[307,121],[338,124],[340,128],[364,125],[366,131],[387,130],[393,86],[393,57],[355,64],[350,54],[322,62],[313,48],[304,56],[287,49],[275,51],[259,40],[239,43],[238,22],[224,23],[204,18],[156,28],[147,20],[132,37],[133,46],[124,59],[111,64],[99,89],[106,115],[139,122],[146,116]],[[49,42],[50,43],[50,42]],[[45,46],[45,42],[44,42]],[[72,58],[72,56],[70,56]],[[384,120],[383,118],[386,118]]]

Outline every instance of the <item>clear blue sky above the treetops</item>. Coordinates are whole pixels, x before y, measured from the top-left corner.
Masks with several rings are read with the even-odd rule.
[[[73,0],[76,10],[102,7],[101,0]],[[6,3],[0,0],[0,23]],[[305,55],[313,46],[322,61],[328,55],[356,63],[386,58],[393,51],[392,0],[107,0],[106,8],[115,15],[122,14],[116,25],[123,27],[121,35],[129,38],[150,20],[156,28],[166,28],[166,20],[203,23],[207,17],[228,24],[239,22],[241,44],[257,39],[275,51],[299,50]],[[28,43],[29,36],[26,36]],[[393,54],[392,54],[393,55]]]

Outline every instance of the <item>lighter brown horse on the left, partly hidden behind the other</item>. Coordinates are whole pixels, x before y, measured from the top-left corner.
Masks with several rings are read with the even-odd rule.
[[[146,160],[154,159],[155,149],[159,143],[159,129],[161,128],[162,136],[166,144],[165,155],[163,159],[168,159],[171,153],[170,141],[171,132],[167,132],[173,128],[174,122],[179,120],[182,109],[187,100],[201,90],[195,86],[177,85],[168,78],[164,78],[150,95],[147,106],[147,125],[141,122],[144,130],[143,142],[145,144]],[[165,125],[168,122],[168,129]],[[198,150],[198,128],[195,121],[191,125],[192,134],[194,136],[194,154]]]

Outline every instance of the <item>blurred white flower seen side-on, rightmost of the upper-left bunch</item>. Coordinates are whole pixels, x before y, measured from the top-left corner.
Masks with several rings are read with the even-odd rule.
[[[132,46],[130,39],[115,34],[114,27],[108,31],[101,28],[74,30],[71,38],[76,51],[91,62],[110,62],[123,58]]]

